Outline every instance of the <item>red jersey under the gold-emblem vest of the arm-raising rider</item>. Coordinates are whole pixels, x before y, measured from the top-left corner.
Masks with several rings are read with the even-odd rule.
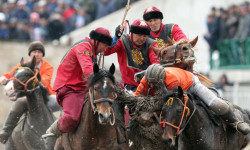
[[[130,41],[132,41],[131,36],[130,36]],[[134,44],[133,46],[136,47]],[[154,42],[152,46],[158,48],[156,42]],[[104,52],[104,55],[107,56],[113,53],[117,53],[123,83],[138,86],[139,82],[134,81],[134,74],[137,72],[141,72],[142,70],[128,66],[126,52],[121,39],[117,41],[117,44],[114,47],[109,47]],[[157,56],[155,55],[152,48],[149,48],[148,56],[150,64],[157,63],[156,62]]]

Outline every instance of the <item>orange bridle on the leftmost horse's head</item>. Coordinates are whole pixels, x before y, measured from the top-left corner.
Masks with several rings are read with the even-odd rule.
[[[35,87],[36,87],[37,83],[39,82],[39,80],[37,79],[37,75],[38,75],[39,71],[36,69],[36,71],[34,72],[29,67],[18,67],[17,69],[28,69],[33,74],[33,76],[31,78],[29,78],[25,83],[23,83],[22,81],[20,81],[19,79],[17,79],[15,76],[12,77],[13,81],[17,81],[19,84],[23,85],[23,87],[24,87],[24,90],[15,90],[15,91],[17,91],[17,92],[32,92],[32,91],[34,91],[36,89]],[[33,82],[32,82],[32,89],[28,89],[27,85],[32,80],[33,80]]]

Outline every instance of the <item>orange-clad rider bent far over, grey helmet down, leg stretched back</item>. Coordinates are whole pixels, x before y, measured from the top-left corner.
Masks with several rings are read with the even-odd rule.
[[[167,90],[181,86],[184,91],[200,97],[212,111],[219,115],[226,123],[235,127],[242,134],[247,135],[250,132],[249,124],[238,120],[231,105],[217,97],[206,86],[201,84],[198,77],[194,74],[180,68],[164,68],[159,64],[150,65],[134,95],[149,94],[152,96],[155,92],[154,88],[157,85],[161,85],[160,83],[164,83]]]

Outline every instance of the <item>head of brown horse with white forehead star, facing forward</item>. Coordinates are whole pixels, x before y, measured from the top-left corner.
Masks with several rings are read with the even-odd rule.
[[[115,85],[115,65],[112,64],[109,71],[99,69],[94,64],[94,76],[91,79],[89,87],[89,96],[92,109],[98,113],[98,121],[100,124],[114,124],[114,111],[111,108],[116,94],[114,93]]]

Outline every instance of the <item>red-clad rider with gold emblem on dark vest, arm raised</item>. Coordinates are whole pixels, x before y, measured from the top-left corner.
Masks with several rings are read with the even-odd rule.
[[[146,70],[150,64],[156,62],[157,56],[152,47],[158,48],[158,46],[154,40],[148,38],[150,27],[146,21],[135,20],[130,32],[119,35],[120,28],[118,28],[116,37],[113,37],[118,38],[116,45],[109,47],[104,55],[117,53],[124,86],[127,90],[135,91],[139,85],[139,82],[134,81],[135,73]]]

